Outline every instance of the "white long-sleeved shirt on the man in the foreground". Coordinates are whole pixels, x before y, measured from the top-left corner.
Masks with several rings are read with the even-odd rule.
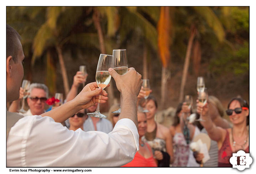
[[[117,167],[139,150],[137,127],[121,119],[112,132],[76,131],[51,117],[26,116],[12,126],[6,142],[7,167]]]

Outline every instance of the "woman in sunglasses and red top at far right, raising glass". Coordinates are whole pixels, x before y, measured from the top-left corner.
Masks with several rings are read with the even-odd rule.
[[[205,127],[210,138],[217,141],[219,149],[218,167],[232,167],[229,162],[232,153],[239,150],[249,153],[249,130],[247,129],[247,125],[249,125],[249,105],[242,98],[233,98],[227,108],[226,114],[229,115],[233,124],[233,127],[228,129],[213,124],[207,104],[204,107],[197,104],[196,109],[198,113],[202,113],[202,119],[205,120],[200,123]]]

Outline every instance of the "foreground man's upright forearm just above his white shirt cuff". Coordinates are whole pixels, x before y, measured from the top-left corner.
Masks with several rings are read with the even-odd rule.
[[[122,96],[122,110],[119,115],[118,120],[123,118],[128,118],[134,122],[138,129],[138,119],[137,119],[137,96],[124,95]]]

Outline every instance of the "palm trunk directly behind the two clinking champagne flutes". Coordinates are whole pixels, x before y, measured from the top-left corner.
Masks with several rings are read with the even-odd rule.
[[[99,14],[96,9],[94,9],[93,13],[93,23],[95,28],[97,29],[98,37],[99,37],[99,50],[101,51],[102,54],[106,54],[106,49],[104,45],[104,37],[103,37],[103,32],[101,29],[101,23],[99,21]],[[114,89],[113,89],[113,82],[109,82],[110,86],[106,88],[106,91],[108,92],[108,97],[109,97],[109,106],[112,106],[114,103]]]

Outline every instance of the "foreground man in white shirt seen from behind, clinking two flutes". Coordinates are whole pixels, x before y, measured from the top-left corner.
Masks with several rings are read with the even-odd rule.
[[[19,98],[24,58],[19,34],[6,25],[6,102]],[[134,68],[123,76],[112,68],[109,73],[123,97],[122,112],[112,132],[71,131],[60,124],[81,109],[106,103],[106,91],[97,88],[96,82],[89,83],[70,102],[41,116],[20,118],[10,130],[6,129],[6,166],[111,167],[130,162],[139,147],[136,102],[142,79]],[[6,115],[9,127],[10,115],[15,114]]]

